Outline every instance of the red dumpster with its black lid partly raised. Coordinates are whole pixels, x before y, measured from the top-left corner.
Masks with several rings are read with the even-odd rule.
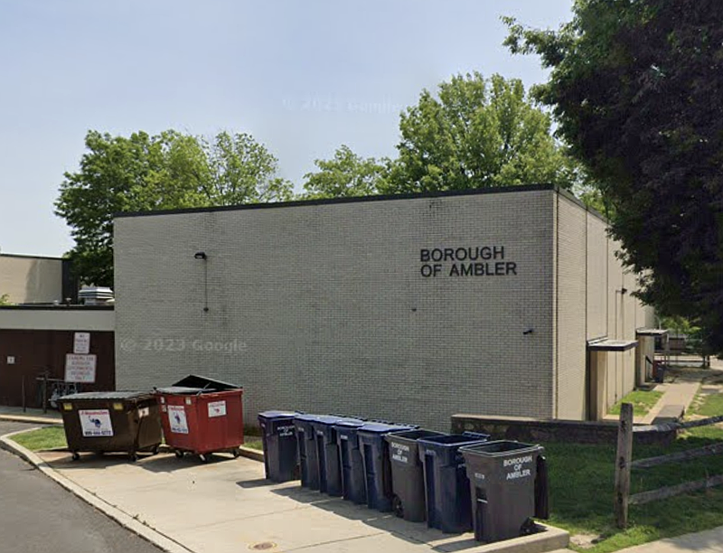
[[[168,388],[155,389],[165,443],[177,457],[190,453],[205,463],[212,453],[239,456],[243,444],[243,389],[190,375]]]

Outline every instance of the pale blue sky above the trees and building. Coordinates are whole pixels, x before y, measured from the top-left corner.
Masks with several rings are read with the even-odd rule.
[[[0,249],[59,256],[53,215],[89,129],[248,132],[298,187],[342,144],[391,155],[399,111],[452,74],[545,80],[502,14],[557,27],[572,0],[2,0]]]

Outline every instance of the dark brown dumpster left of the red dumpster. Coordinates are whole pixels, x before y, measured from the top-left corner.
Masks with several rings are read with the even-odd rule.
[[[136,391],[85,392],[58,398],[73,460],[80,452],[157,453],[161,419],[153,394]]]

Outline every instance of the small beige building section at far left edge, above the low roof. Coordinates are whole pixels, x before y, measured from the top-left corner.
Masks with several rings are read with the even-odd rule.
[[[52,304],[63,301],[67,261],[0,254],[0,296],[12,304]]]

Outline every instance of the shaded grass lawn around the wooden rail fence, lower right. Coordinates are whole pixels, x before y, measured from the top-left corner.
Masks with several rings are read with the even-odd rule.
[[[634,458],[665,455],[723,439],[723,429],[695,428],[669,447],[636,445]],[[723,488],[680,495],[630,507],[627,530],[615,528],[613,492],[615,445],[546,444],[549,462],[550,524],[571,535],[596,536],[592,548],[577,551],[606,553],[655,539],[678,536],[723,525]],[[632,492],[723,474],[723,456],[712,455],[685,464],[634,469]]]

